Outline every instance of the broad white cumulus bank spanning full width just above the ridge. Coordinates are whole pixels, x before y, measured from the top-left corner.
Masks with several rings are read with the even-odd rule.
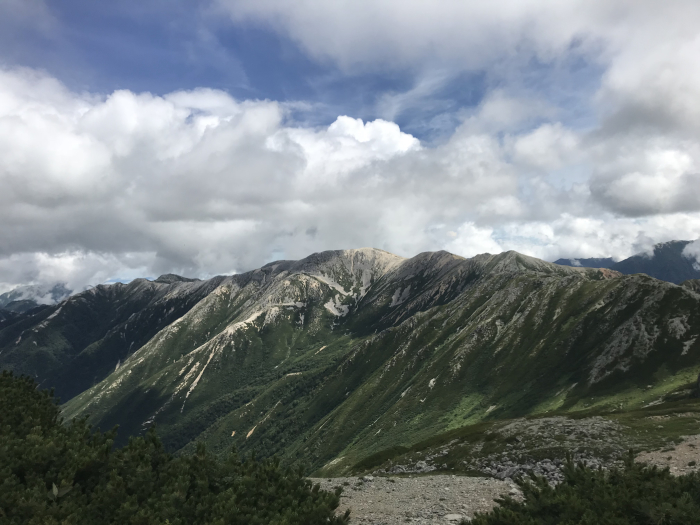
[[[551,117],[498,91],[426,146],[387,120],[305,128],[217,90],[98,96],[0,70],[0,289],[208,277],[334,248],[554,260],[700,237],[695,146]]]

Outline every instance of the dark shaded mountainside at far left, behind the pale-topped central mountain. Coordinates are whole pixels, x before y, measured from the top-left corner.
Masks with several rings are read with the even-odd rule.
[[[104,379],[221,279],[100,285],[0,323],[0,367],[30,375],[68,400]]]

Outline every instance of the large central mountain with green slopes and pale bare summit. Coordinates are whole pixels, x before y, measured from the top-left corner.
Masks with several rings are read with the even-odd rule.
[[[221,278],[64,414],[344,473],[481,421],[652,403],[697,376],[699,307],[515,252],[324,252]]]

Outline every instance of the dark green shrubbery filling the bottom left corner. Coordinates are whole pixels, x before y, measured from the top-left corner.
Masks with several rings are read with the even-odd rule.
[[[274,460],[165,452],[154,432],[113,450],[115,432],[63,425],[29,378],[0,375],[0,523],[346,524],[339,494]]]

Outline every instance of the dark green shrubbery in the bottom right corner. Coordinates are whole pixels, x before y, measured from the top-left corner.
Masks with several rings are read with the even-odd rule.
[[[700,476],[634,463],[610,471],[569,461],[565,481],[519,482],[525,500],[499,500],[470,525],[695,525],[700,524]]]

